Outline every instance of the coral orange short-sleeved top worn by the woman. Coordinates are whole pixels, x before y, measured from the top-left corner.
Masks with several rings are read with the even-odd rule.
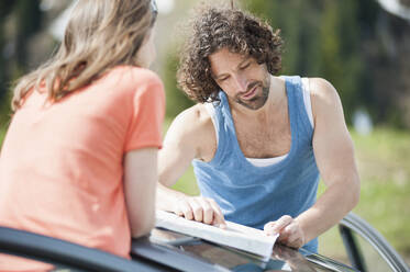
[[[0,225],[129,258],[123,157],[160,147],[164,112],[159,78],[136,67],[117,67],[54,104],[32,91],[1,150]],[[0,257],[0,271],[36,270],[11,260]]]

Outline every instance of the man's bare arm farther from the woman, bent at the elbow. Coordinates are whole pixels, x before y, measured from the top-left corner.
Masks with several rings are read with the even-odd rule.
[[[279,240],[301,247],[341,220],[358,202],[359,178],[343,109],[336,90],[328,81],[310,79],[314,116],[313,150],[325,192],[297,218],[284,216],[265,226],[280,233]]]

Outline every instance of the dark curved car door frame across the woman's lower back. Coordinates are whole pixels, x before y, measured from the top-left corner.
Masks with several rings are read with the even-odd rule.
[[[145,260],[128,260],[98,249],[37,235],[20,229],[0,227],[0,253],[29,258],[54,265],[102,272],[175,271]]]

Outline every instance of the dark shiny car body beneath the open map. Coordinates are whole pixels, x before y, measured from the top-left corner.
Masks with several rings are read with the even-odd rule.
[[[388,271],[410,271],[401,257],[354,214],[339,225],[350,264],[276,245],[269,260],[164,228],[134,239],[131,260],[23,230],[0,227],[0,252],[55,264],[56,271],[372,271],[357,236],[367,241]],[[66,271],[66,270],[64,270]]]

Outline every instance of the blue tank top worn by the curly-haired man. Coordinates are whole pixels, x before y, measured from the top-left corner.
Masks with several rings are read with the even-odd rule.
[[[214,102],[212,116],[218,147],[209,162],[193,160],[202,196],[213,199],[225,219],[263,229],[282,215],[298,216],[317,197],[319,170],[315,163],[313,128],[306,112],[300,77],[284,77],[288,98],[291,146],[288,156],[272,166],[256,167],[246,160],[235,133],[224,92]],[[318,239],[303,248],[318,251]]]

